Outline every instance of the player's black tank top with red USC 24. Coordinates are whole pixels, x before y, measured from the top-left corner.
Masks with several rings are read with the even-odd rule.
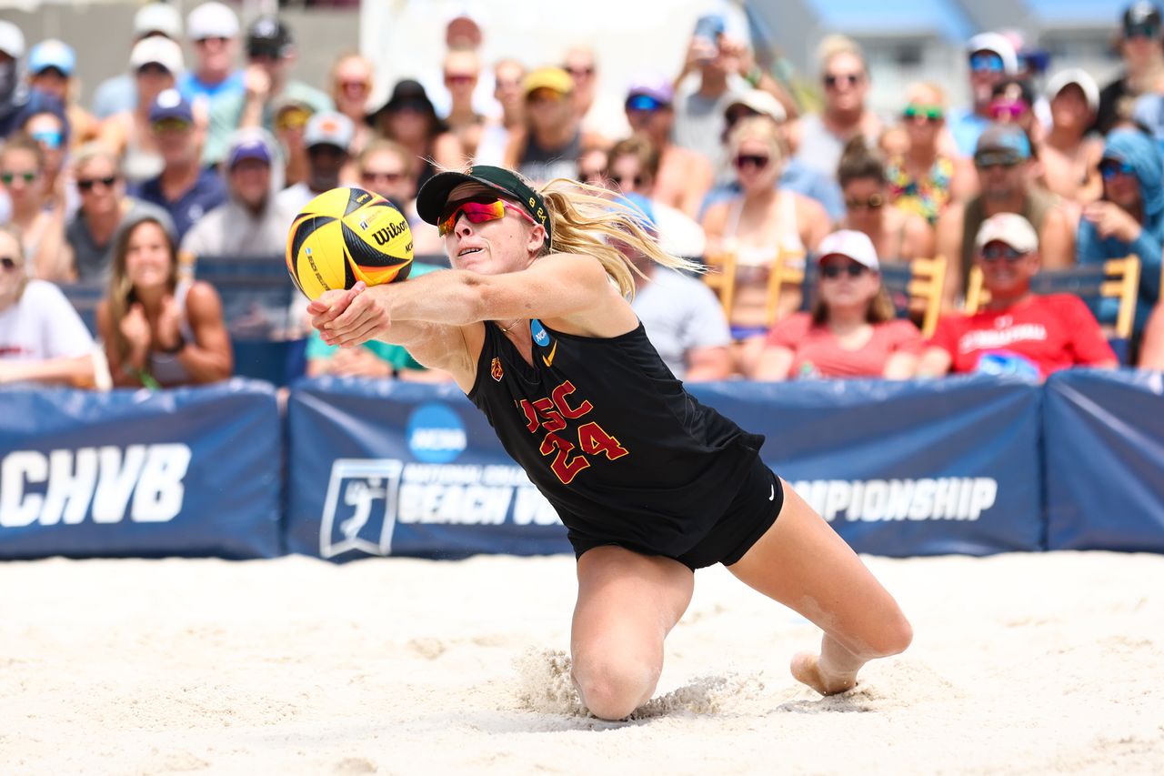
[[[492,324],[469,400],[570,538],[676,557],[724,514],[764,437],[683,389],[640,323],[608,339],[530,324],[533,366]]]

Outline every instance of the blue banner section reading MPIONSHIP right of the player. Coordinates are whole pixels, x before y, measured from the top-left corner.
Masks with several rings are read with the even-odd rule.
[[[859,552],[1037,550],[1039,388],[991,376],[691,389]]]

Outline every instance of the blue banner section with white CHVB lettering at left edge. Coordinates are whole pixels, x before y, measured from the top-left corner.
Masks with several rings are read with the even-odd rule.
[[[0,557],[271,557],[271,386],[0,391]]]

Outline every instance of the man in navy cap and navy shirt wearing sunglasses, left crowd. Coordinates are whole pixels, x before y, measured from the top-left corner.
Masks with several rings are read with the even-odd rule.
[[[177,89],[154,99],[149,119],[165,165],[129,192],[169,213],[180,241],[203,216],[226,202],[226,182],[201,165],[201,133],[194,126],[193,106]]]

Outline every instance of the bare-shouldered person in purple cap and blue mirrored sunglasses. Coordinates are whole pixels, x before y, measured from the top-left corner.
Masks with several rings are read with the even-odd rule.
[[[654,200],[695,218],[711,188],[715,170],[708,157],[672,140],[674,98],[674,90],[666,78],[658,73],[643,75],[627,89],[624,108],[632,132],[647,137],[659,150]]]

